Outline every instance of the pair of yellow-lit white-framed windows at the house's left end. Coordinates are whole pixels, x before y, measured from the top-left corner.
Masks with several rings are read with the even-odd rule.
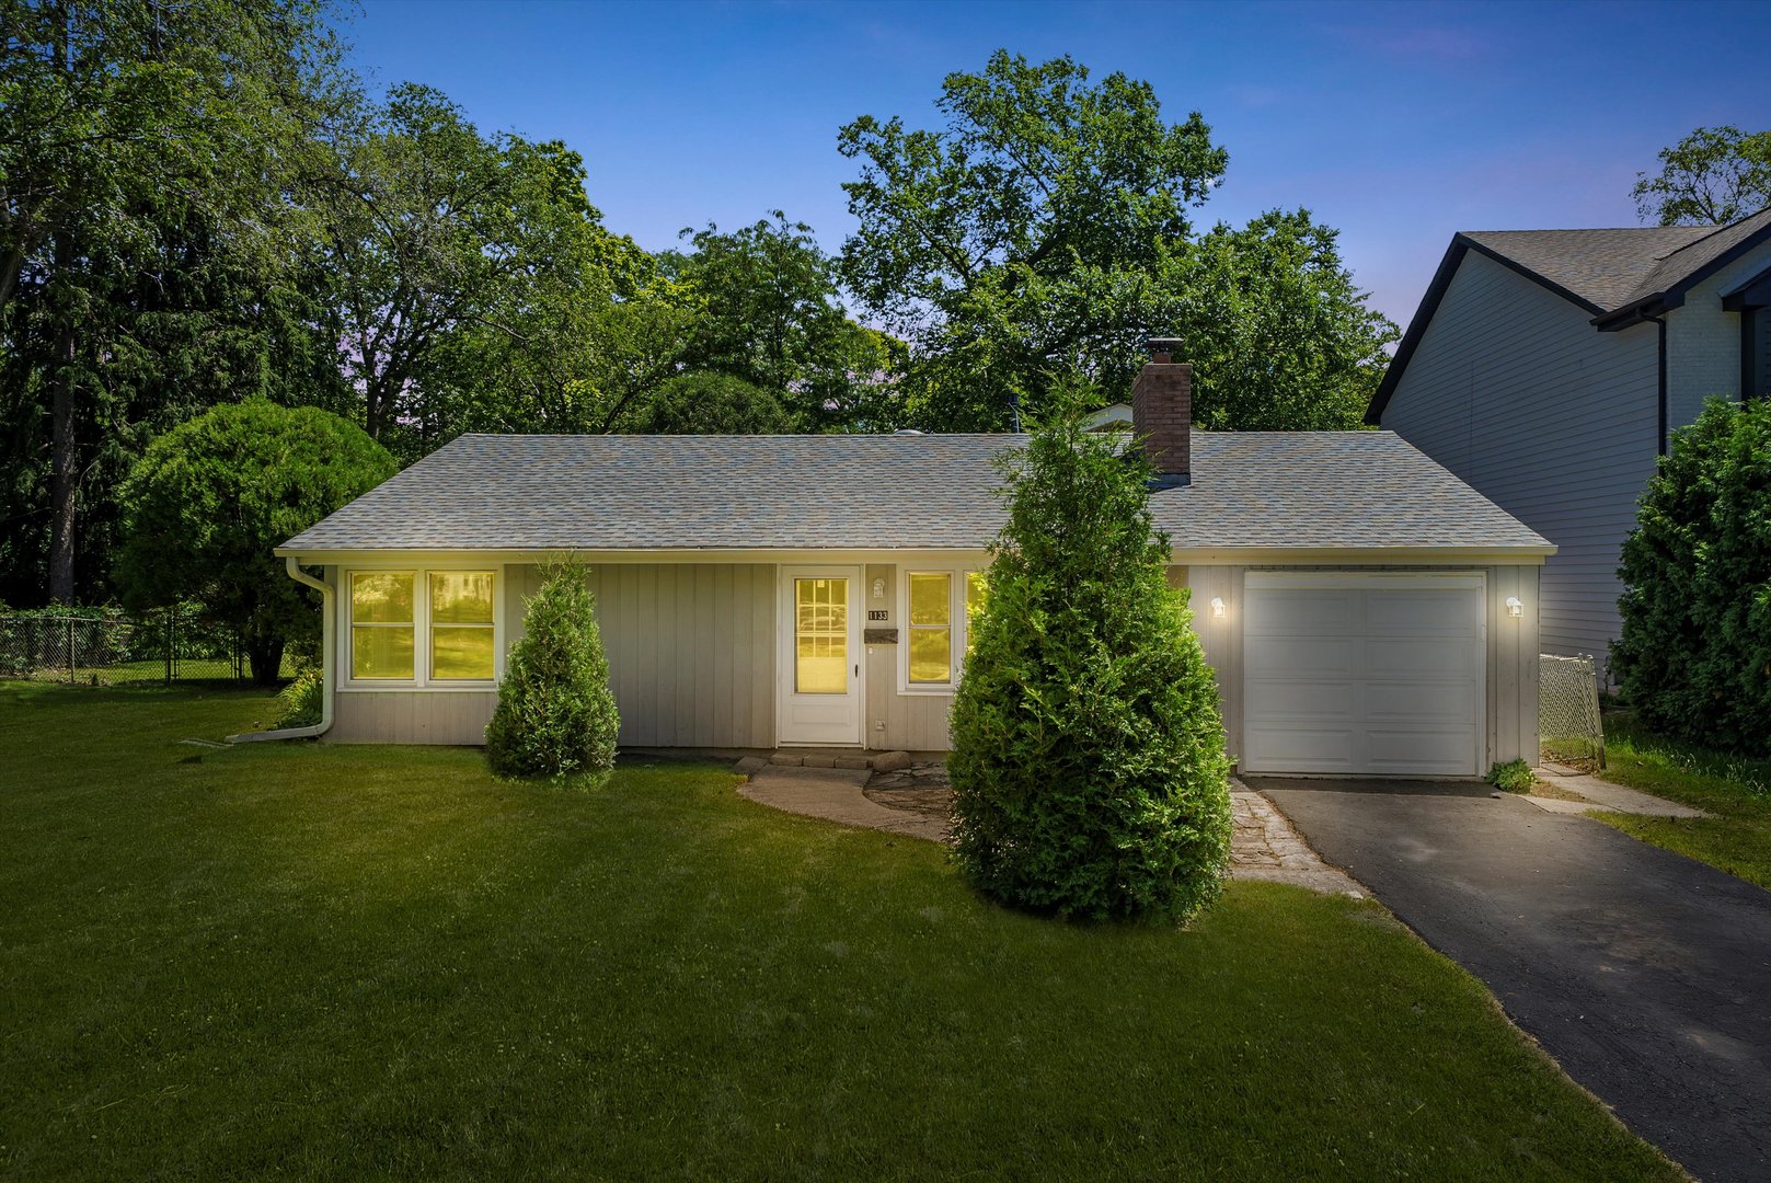
[[[496,680],[492,572],[356,570],[349,586],[351,682]]]

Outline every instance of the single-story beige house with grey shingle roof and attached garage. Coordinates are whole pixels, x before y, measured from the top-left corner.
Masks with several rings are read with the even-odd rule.
[[[1132,418],[1245,772],[1537,762],[1555,547],[1394,432]],[[627,747],[944,751],[1022,436],[462,436],[278,547],[324,593],[328,738],[478,744],[538,563],[590,565]],[[308,568],[308,570],[303,570]],[[308,574],[312,572],[312,574]]]

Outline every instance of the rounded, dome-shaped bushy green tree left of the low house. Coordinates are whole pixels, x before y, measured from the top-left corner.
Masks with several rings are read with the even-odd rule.
[[[317,407],[253,398],[159,436],[120,491],[117,584],[136,609],[197,600],[239,630],[255,682],[319,615],[271,549],[393,476],[393,457]]]

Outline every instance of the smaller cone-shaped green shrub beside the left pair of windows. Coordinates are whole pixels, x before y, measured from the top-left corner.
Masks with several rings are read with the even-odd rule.
[[[622,719],[588,574],[577,563],[549,565],[528,602],[485,726],[485,754],[499,776],[602,776],[615,767]]]

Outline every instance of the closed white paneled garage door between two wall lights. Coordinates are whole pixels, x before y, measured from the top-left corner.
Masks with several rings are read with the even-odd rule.
[[[1249,572],[1243,600],[1243,770],[1481,772],[1481,574]]]

